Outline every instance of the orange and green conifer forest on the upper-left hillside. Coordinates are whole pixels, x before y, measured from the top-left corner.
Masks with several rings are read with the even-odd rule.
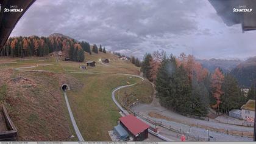
[[[48,37],[20,36],[9,38],[0,55],[7,57],[44,57],[52,52],[62,51],[71,61],[84,61],[84,51],[91,53],[90,44],[76,41],[58,33]]]

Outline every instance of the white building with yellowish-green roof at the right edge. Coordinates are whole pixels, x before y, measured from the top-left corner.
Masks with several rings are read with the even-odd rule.
[[[249,122],[254,120],[254,103],[255,100],[248,100],[245,105],[241,107],[241,117]]]

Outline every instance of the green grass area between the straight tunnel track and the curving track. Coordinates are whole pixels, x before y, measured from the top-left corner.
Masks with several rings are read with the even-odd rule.
[[[68,99],[80,132],[87,141],[110,141],[108,131],[117,125],[118,108],[112,90],[140,78],[115,74],[72,74],[82,82],[82,89],[68,91]]]

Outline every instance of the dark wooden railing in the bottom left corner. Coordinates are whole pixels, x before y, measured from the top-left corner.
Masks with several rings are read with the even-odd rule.
[[[10,119],[10,116],[4,105],[2,105],[2,114],[4,115],[5,123],[9,131],[0,132],[0,141],[18,140],[18,131],[15,125],[13,125],[13,122]]]

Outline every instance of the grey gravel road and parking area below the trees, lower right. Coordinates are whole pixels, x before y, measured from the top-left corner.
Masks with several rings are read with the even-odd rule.
[[[179,120],[180,123],[171,122],[171,121],[160,119],[160,118],[154,118],[154,120],[162,121],[162,123],[165,123],[166,125],[171,125],[172,128],[182,129],[182,132],[184,132],[185,134],[194,135],[195,137],[203,137],[205,139],[207,139],[208,137],[207,129],[185,125],[184,123],[193,123],[195,125],[196,123],[198,123],[200,125],[210,126],[210,127],[219,128],[219,129],[253,132],[253,128],[250,128],[250,127],[228,125],[225,123],[218,123],[218,122],[208,122],[205,120],[198,120],[195,118],[185,117],[183,115],[177,114],[176,112],[169,111],[163,108],[162,106],[140,104],[140,105],[134,106],[132,109],[135,112],[141,112],[141,113],[144,113],[145,115],[148,115],[149,112],[158,112],[159,114],[165,115],[166,117],[175,118],[176,120]],[[252,138],[249,138],[249,137],[228,135],[222,132],[215,132],[215,131],[209,131],[209,135],[213,137],[213,139],[211,139],[212,141],[214,140],[216,141],[252,141],[253,140]]]

